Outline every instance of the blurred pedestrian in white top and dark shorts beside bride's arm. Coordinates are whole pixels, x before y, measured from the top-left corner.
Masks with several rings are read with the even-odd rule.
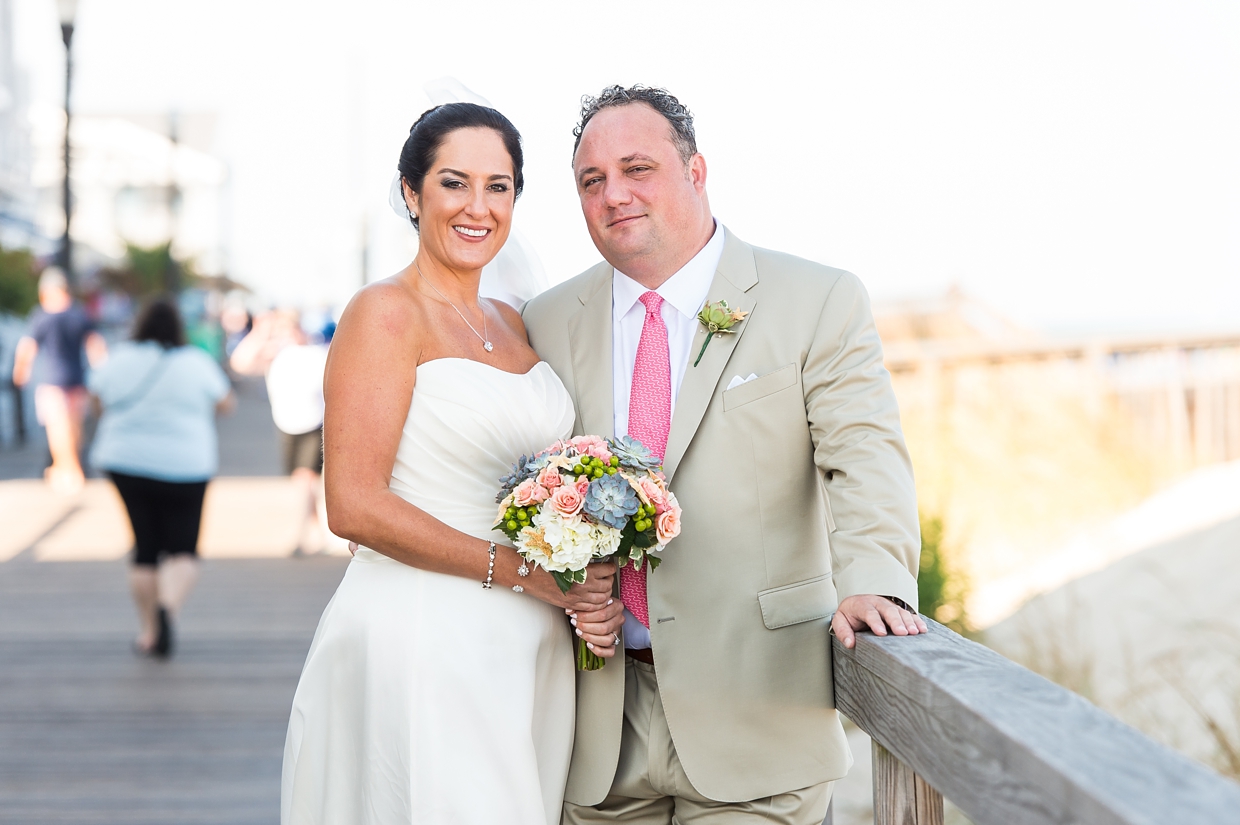
[[[319,552],[327,541],[319,517],[327,344],[308,342],[296,313],[269,313],[254,319],[254,329],[233,350],[231,365],[241,375],[267,376],[267,397],[275,428],[280,430],[284,471],[298,491],[295,552]]]

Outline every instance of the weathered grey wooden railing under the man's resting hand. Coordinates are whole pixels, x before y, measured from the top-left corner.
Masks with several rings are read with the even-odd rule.
[[[1240,823],[1240,785],[928,624],[833,641],[836,706],[874,741],[875,825],[939,825],[942,795],[976,825]]]

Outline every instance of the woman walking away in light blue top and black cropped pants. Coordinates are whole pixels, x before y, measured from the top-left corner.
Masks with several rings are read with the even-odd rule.
[[[198,578],[202,499],[219,462],[215,417],[232,408],[232,388],[211,356],[186,346],[167,299],[139,314],[133,341],[92,373],[89,388],[103,408],[91,462],[117,485],[134,528],[134,650],[166,658],[172,620]]]

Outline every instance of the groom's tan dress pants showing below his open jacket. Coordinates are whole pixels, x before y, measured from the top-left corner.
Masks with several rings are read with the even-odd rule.
[[[624,734],[611,793],[595,806],[564,803],[562,825],[821,825],[831,801],[831,782],[742,803],[714,801],[699,794],[676,756],[655,667],[627,656],[624,661]]]

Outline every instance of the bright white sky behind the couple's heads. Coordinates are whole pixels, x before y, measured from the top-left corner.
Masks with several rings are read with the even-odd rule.
[[[465,12],[467,10],[467,14]],[[15,0],[36,102],[60,105],[53,0]],[[553,282],[593,264],[569,170],[583,93],[670,88],[715,216],[856,272],[951,284],[1043,329],[1240,328],[1240,5],[82,0],[81,112],[213,110],[231,274],[342,300],[405,263],[387,187],[423,84],[522,130],[517,226]]]

